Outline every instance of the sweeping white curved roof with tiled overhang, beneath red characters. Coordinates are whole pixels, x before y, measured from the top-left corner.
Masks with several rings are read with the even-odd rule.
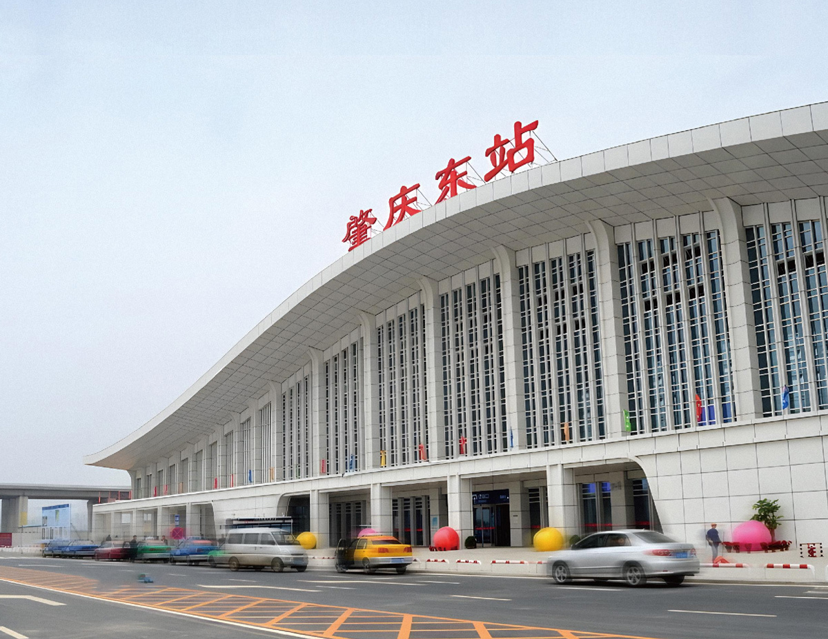
[[[359,324],[419,289],[513,250],[587,231],[738,204],[828,195],[828,103],[653,137],[533,168],[447,199],[346,253],[238,341],[170,406],[85,464],[133,468],[243,411]]]

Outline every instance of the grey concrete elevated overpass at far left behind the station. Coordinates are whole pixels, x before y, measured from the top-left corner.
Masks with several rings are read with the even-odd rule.
[[[128,486],[60,486],[42,483],[0,483],[0,532],[19,532],[27,525],[29,499],[65,499],[86,502],[87,530],[92,530],[92,506],[131,499]]]

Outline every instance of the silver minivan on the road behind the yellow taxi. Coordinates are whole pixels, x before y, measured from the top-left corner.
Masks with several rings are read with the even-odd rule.
[[[308,555],[296,538],[277,528],[243,528],[229,532],[227,541],[212,555],[210,565],[243,566],[261,570],[266,566],[281,573],[285,568],[304,572]]]

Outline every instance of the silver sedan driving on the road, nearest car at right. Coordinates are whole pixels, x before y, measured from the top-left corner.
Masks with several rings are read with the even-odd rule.
[[[588,578],[623,579],[630,586],[641,586],[654,577],[677,586],[686,575],[698,572],[693,545],[656,531],[596,532],[546,560],[546,574],[556,584]]]

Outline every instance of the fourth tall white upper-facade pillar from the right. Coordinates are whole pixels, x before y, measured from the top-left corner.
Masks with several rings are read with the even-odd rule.
[[[426,459],[445,458],[445,429],[442,425],[443,384],[441,370],[438,366],[442,358],[440,353],[440,295],[437,291],[437,282],[427,277],[421,277],[417,282],[422,291],[426,315],[426,398],[428,400],[428,454]],[[432,531],[433,534],[434,531]]]

